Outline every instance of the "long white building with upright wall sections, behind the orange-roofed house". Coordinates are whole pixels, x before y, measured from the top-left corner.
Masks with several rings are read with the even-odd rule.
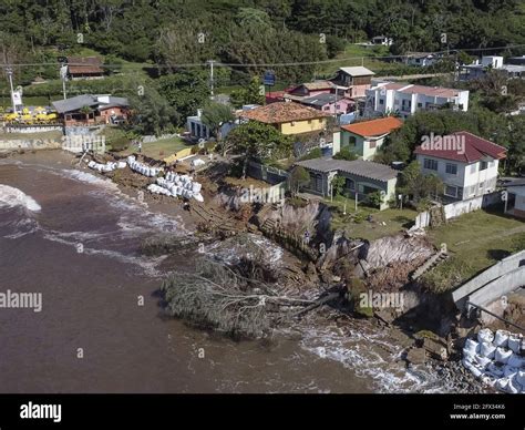
[[[380,82],[366,91],[364,115],[398,113],[409,117],[416,111],[435,110],[449,104],[453,110],[469,110],[469,91],[442,86]]]

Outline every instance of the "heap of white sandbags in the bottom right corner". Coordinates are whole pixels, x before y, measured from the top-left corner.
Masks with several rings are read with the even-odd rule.
[[[488,328],[480,330],[477,341],[467,339],[463,366],[476,378],[498,390],[525,393],[525,340],[523,335]]]

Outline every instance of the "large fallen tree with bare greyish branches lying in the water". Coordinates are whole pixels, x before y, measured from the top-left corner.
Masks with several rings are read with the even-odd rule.
[[[298,310],[313,309],[318,301],[279,294],[265,281],[205,258],[197,262],[195,273],[176,273],[161,289],[172,316],[236,338],[262,337],[284,319],[299,315]]]

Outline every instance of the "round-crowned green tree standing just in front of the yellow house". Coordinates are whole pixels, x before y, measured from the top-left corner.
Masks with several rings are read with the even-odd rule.
[[[276,127],[257,121],[240,124],[229,132],[228,144],[243,154],[243,178],[246,178],[250,158],[259,161],[278,160],[290,155],[291,139]]]

